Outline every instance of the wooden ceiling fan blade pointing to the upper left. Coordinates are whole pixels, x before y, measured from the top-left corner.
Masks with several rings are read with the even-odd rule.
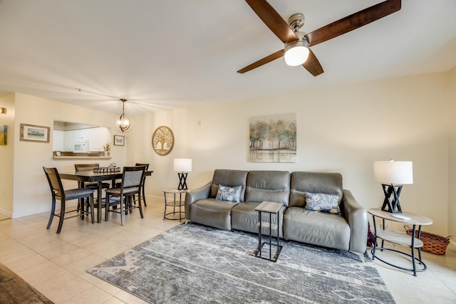
[[[277,11],[266,0],[245,0],[247,4],[254,10],[255,14],[266,24],[267,27],[277,36],[283,43],[296,41],[298,37],[286,23],[286,21],[277,13]]]

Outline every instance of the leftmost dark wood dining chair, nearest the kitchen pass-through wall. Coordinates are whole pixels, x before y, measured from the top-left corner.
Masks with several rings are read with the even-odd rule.
[[[63,221],[66,219],[71,219],[76,216],[81,216],[81,219],[84,219],[84,216],[92,217],[92,224],[95,222],[93,216],[93,190],[87,188],[77,188],[77,189],[63,189],[62,181],[58,175],[56,168],[46,168],[43,167],[46,178],[49,182],[49,187],[51,187],[52,195],[52,206],[51,206],[51,215],[49,216],[48,226],[46,229],[49,229],[52,224],[54,216],[58,216],[60,219],[58,221],[57,234],[60,234],[62,230]],[[78,207],[74,210],[66,211],[66,202],[73,199],[79,199],[81,207]],[[88,199],[88,200],[86,200]],[[60,213],[56,213],[56,200],[60,201]],[[87,206],[87,209],[85,208]],[[90,211],[88,211],[90,206]],[[77,212],[78,214],[73,216],[65,217],[65,214]],[[80,214],[79,214],[80,213]]]

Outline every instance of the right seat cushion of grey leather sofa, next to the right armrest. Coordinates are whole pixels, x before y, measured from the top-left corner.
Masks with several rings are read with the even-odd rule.
[[[350,248],[350,226],[337,214],[289,207],[284,214],[284,239],[328,248]]]

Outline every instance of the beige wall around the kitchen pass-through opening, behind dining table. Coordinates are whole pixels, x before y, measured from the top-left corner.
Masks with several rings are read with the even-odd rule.
[[[126,147],[113,147],[113,159],[53,159],[51,142],[22,142],[20,125],[42,125],[53,128],[53,120],[81,122],[86,124],[110,127],[114,130],[111,113],[81,108],[76,105],[57,103],[53,100],[36,98],[30,95],[15,94],[14,141],[11,137],[9,145],[14,145],[14,168],[7,174],[14,179],[14,205],[12,216],[20,217],[48,211],[51,208],[51,192],[43,172],[43,166],[56,167],[60,172],[74,171],[75,162],[99,162],[107,166],[110,162],[118,162],[121,166],[126,162]],[[94,119],[96,117],[96,120]],[[113,132],[112,132],[113,133]],[[116,133],[118,134],[118,133]],[[111,140],[112,141],[112,140]],[[77,187],[76,182],[65,182],[66,187]]]

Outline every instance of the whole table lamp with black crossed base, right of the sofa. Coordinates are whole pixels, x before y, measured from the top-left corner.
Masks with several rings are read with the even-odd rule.
[[[385,194],[382,210],[402,213],[399,196],[404,184],[413,184],[413,162],[395,162],[393,159],[373,162],[373,174],[375,182],[382,184]]]

